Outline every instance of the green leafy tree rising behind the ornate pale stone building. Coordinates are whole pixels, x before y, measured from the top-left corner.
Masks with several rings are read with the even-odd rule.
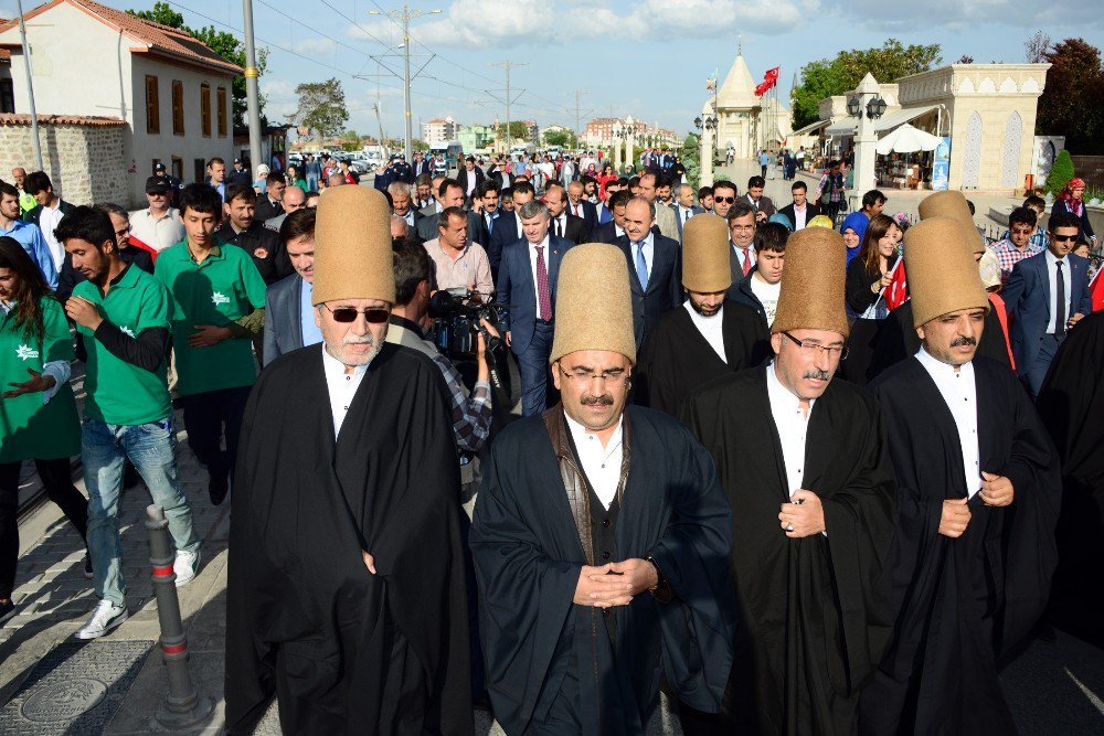
[[[825,97],[854,89],[869,72],[879,82],[893,82],[926,72],[943,62],[940,44],[910,44],[889,39],[874,49],[841,51],[835,58],[821,58],[802,67],[802,83],[790,92],[794,127],[802,128],[820,118]]]

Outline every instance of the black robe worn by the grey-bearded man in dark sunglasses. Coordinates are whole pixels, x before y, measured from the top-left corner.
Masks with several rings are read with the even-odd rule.
[[[231,494],[229,733],[275,692],[286,734],[471,734],[445,391],[425,356],[386,343],[335,440],[319,345],[261,374]]]

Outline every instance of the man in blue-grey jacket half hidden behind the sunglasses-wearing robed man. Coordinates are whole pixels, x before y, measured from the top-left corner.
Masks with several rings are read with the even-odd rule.
[[[315,211],[297,210],[280,226],[279,238],[294,274],[268,287],[265,295],[265,329],[262,362],[322,341],[315,324],[310,291],[315,280]]]

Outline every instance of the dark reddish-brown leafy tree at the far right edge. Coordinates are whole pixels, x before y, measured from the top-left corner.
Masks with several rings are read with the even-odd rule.
[[[1084,39],[1066,39],[1042,52],[1050,63],[1039,97],[1036,131],[1065,136],[1074,153],[1104,153],[1104,67],[1101,51]],[[1048,183],[1049,183],[1048,179]]]

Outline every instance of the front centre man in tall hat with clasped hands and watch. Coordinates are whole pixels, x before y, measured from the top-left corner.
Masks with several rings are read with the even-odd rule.
[[[716,712],[731,668],[732,516],[705,450],[627,405],[624,253],[563,258],[562,403],[496,438],[471,523],[487,689],[509,734],[643,734],[666,681]]]

